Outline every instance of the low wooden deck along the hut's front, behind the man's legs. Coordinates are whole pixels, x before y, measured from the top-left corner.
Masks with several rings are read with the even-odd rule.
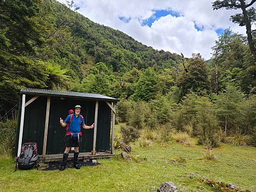
[[[78,159],[102,159],[102,158],[111,158],[115,154],[111,154],[110,152],[97,152],[96,155],[91,155],[91,152],[79,153]],[[42,155],[39,155],[40,163],[44,162],[53,162],[53,161],[62,161],[63,154],[50,154],[46,155],[45,158]],[[69,153],[68,160],[73,160],[74,153]]]

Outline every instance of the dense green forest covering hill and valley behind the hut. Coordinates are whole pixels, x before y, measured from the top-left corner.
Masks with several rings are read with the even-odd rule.
[[[223,2],[236,1],[213,2],[213,9],[237,8]],[[10,143],[20,89],[39,88],[120,99],[116,123],[126,124],[131,140],[137,130],[160,128],[163,137],[174,129],[211,147],[256,146],[253,7],[231,16],[247,36],[225,29],[209,61],[155,50],[72,7],[73,1],[0,1],[0,129]]]

